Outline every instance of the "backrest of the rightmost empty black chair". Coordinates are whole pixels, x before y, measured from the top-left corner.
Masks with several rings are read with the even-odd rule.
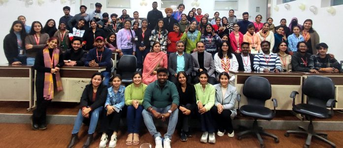
[[[309,76],[303,84],[303,93],[307,96],[308,104],[326,108],[329,99],[335,98],[335,83],[321,75]]]

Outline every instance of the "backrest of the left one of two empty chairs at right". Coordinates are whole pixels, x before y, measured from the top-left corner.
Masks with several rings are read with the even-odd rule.
[[[249,76],[243,86],[243,94],[248,105],[265,106],[266,100],[272,97],[272,86],[268,79],[260,76]]]

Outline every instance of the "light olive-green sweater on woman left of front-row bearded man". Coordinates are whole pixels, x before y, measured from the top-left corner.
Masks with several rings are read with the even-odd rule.
[[[147,85],[141,83],[139,87],[135,87],[132,83],[125,89],[125,105],[131,106],[132,100],[137,100],[139,105],[142,105],[143,96]]]

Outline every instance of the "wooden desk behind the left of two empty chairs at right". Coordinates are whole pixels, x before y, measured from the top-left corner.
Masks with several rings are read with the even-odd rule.
[[[246,97],[243,95],[243,85],[249,76],[261,76],[269,80],[272,85],[272,99],[277,100],[276,110],[292,110],[292,99],[289,97],[292,91],[302,92],[301,87],[303,84],[303,74],[283,72],[275,73],[260,73],[260,72],[231,72],[230,75],[235,75],[235,86],[237,93],[241,94],[240,106],[246,105]],[[301,96],[298,95],[295,103],[301,103]],[[238,106],[238,104],[237,104]],[[265,106],[274,109],[272,100],[266,101]]]

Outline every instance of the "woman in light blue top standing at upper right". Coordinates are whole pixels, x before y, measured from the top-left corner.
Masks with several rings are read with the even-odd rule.
[[[299,41],[304,41],[303,35],[300,34],[299,26],[293,27],[293,34],[287,37],[288,39],[288,52],[293,55],[293,52],[298,51],[297,44]]]

